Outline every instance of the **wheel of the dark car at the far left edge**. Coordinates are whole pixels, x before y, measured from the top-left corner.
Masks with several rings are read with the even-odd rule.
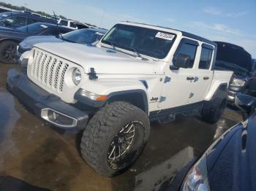
[[[15,58],[16,47],[18,43],[13,41],[4,41],[0,44],[0,61],[3,63],[17,63]]]

